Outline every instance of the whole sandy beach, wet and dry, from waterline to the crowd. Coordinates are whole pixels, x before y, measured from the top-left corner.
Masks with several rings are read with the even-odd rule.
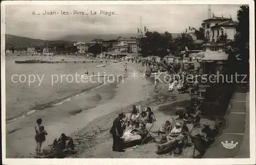
[[[115,63],[115,67],[123,69],[126,62]],[[160,83],[157,89],[154,89],[154,77],[143,78],[132,77],[132,72],[143,72],[144,68],[137,63],[128,63],[128,72],[123,82],[107,83],[102,87],[92,90],[89,93],[71,99],[61,105],[46,108],[45,111],[37,112],[27,117],[26,120],[18,120],[8,123],[7,130],[13,130],[7,134],[7,146],[12,150],[7,150],[7,157],[34,157],[34,119],[44,115],[54,114],[57,111],[66,111],[68,107],[74,109],[69,112],[68,117],[44,118],[44,126],[48,132],[46,141],[42,149],[49,148],[55,138],[61,133],[70,135],[75,140],[75,155],[70,157],[89,158],[89,157],[159,157],[155,153],[156,144],[145,144],[136,150],[116,153],[111,150],[112,136],[109,133],[113,120],[119,113],[131,111],[132,105],[142,105],[154,107],[153,112],[157,119],[157,125],[163,124],[166,120],[175,117],[177,108],[185,108],[190,104],[189,94],[178,94],[177,91],[167,92],[168,84]],[[112,90],[110,90],[112,89]],[[92,101],[94,103],[92,103]],[[78,105],[77,105],[78,104]],[[90,106],[89,106],[90,105]],[[67,116],[67,115],[66,115]],[[202,119],[201,123],[213,125],[214,121]],[[15,129],[13,129],[15,128]],[[195,128],[192,134],[200,131]],[[32,145],[27,145],[32,144]],[[26,148],[26,150],[24,150]],[[147,152],[145,152],[145,150]],[[193,147],[186,148],[186,155],[190,157]],[[160,157],[164,157],[161,155]]]

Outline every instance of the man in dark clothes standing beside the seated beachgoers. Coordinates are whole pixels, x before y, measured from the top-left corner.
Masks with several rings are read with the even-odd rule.
[[[123,118],[123,114],[119,114],[118,118],[116,118],[113,122],[113,125],[110,129],[110,133],[113,135],[113,151],[118,151],[118,152],[124,152],[123,150],[123,142],[122,139],[120,138],[123,134],[123,129],[122,129],[122,124],[121,120]]]

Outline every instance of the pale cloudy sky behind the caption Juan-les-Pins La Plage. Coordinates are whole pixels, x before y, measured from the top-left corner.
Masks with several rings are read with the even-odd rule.
[[[211,5],[211,13],[227,18],[231,15],[237,20],[240,6]],[[46,10],[59,14],[43,15]],[[100,10],[117,15],[100,15]],[[61,15],[61,11],[72,14]],[[89,15],[74,15],[74,11]],[[97,15],[91,15],[91,11]],[[188,26],[200,28],[207,12],[208,5],[6,5],[6,34],[44,40],[87,34],[134,33],[137,36],[140,24],[142,31],[146,26],[148,31],[182,33]]]

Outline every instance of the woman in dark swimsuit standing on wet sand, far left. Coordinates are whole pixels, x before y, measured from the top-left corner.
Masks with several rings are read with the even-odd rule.
[[[35,126],[35,141],[36,141],[36,153],[39,154],[41,151],[42,142],[46,140],[45,135],[47,132],[44,130],[44,127],[40,126],[42,124],[42,119],[36,120],[37,125]]]

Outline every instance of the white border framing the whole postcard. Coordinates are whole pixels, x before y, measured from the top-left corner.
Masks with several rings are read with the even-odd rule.
[[[222,159],[33,159],[6,158],[5,140],[5,5],[140,5],[140,4],[248,4],[250,12],[250,158]],[[1,92],[2,92],[2,157],[3,164],[255,164],[255,49],[254,1],[2,1],[1,2]],[[2,57],[3,56],[3,57]]]

